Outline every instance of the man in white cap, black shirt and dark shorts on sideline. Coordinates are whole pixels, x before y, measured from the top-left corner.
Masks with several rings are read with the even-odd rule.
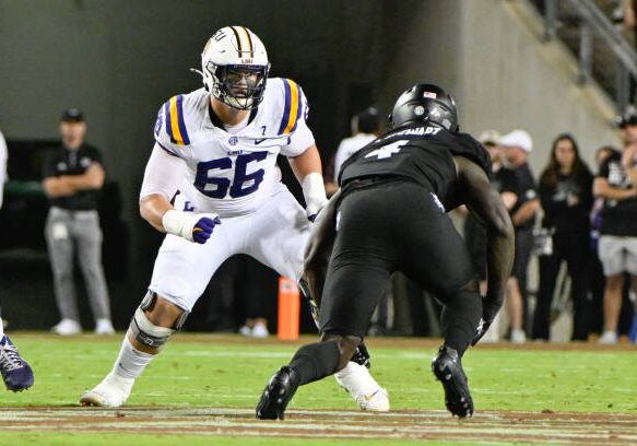
[[[507,167],[516,176],[518,200],[511,209],[511,221],[516,228],[516,259],[511,278],[507,282],[507,310],[511,318],[511,341],[524,342],[524,318],[528,318],[527,269],[533,247],[533,225],[540,200],[535,179],[528,164],[533,150],[531,136],[524,130],[514,130],[500,139]]]

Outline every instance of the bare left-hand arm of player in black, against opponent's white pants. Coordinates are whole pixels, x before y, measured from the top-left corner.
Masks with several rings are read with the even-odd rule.
[[[332,254],[335,233],[337,201],[341,196],[339,189],[322,209],[320,215],[315,221],[311,234],[305,250],[305,266],[303,279],[307,282],[312,298],[320,305],[320,298],[326,283],[328,261]]]

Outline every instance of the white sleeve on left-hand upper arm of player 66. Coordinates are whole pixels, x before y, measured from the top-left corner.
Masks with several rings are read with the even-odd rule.
[[[155,144],[144,172],[140,200],[153,193],[161,193],[167,200],[175,195],[184,178],[186,163]]]

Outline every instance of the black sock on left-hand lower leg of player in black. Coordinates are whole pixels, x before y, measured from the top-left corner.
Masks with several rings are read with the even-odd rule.
[[[298,349],[290,367],[296,372],[303,386],[334,374],[340,357],[337,341],[315,342]]]

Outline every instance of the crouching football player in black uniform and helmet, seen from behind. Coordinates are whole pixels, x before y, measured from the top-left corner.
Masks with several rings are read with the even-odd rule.
[[[390,120],[389,132],[345,162],[341,189],[321,212],[310,239],[306,280],[312,296],[322,295],[321,341],[302,347],[272,376],[257,418],[283,419],[298,386],[347,363],[393,271],[405,273],[444,305],[445,342],[432,371],[443,384],[447,409],[460,418],[473,413],[461,357],[502,306],[514,228],[489,185],[489,156],[458,131],[449,94],[436,85],[414,85],[398,98]],[[446,214],[460,204],[487,230],[484,297],[467,247]]]

